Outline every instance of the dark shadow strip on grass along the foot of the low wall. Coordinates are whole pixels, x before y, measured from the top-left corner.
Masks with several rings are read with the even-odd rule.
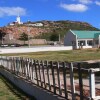
[[[11,91],[14,95],[18,97],[19,100],[36,100],[33,96],[26,94],[20,88],[15,86],[12,82],[10,82],[7,78],[0,74],[0,79],[7,86],[8,90]]]

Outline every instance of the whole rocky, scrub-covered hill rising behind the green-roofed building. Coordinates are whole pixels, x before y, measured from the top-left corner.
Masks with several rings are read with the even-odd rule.
[[[35,26],[34,24],[41,23],[41,26]],[[99,30],[86,22],[80,21],[37,21],[26,22],[22,25],[5,26],[0,28],[0,34],[12,34],[14,38],[19,38],[20,34],[25,32],[33,38],[45,38],[50,40],[52,34],[60,34],[61,38],[69,30]],[[1,36],[1,35],[0,35]]]

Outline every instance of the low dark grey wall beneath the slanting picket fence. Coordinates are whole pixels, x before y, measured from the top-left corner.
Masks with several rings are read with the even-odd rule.
[[[8,80],[10,80],[12,83],[14,83],[17,87],[22,89],[24,92],[26,92],[31,96],[34,96],[36,100],[65,100],[11,74],[10,72],[4,70],[3,68],[0,68],[0,73]]]

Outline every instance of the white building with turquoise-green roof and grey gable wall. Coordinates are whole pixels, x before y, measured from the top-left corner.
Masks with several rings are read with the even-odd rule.
[[[69,30],[64,45],[72,46],[73,49],[100,47],[100,31]]]

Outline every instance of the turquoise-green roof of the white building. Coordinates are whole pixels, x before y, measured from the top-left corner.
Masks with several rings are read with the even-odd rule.
[[[71,30],[79,39],[93,39],[100,35],[100,31],[78,31]]]

